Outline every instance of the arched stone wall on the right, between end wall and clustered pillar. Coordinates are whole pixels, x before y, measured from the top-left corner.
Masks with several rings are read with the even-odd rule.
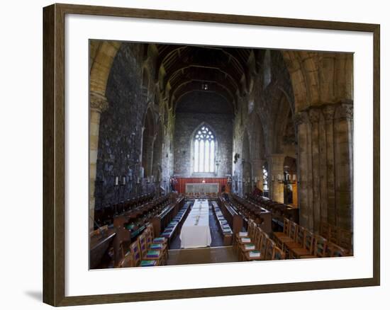
[[[252,88],[239,99],[238,113],[233,123],[233,154],[240,155],[233,163],[233,192],[241,196],[252,190],[255,184],[262,187],[262,166],[265,162],[268,163],[271,180],[272,176],[283,173],[284,156],[296,157],[294,125],[292,139],[286,137],[286,132],[291,135],[291,115],[294,111],[289,71],[281,52],[257,52],[260,59],[256,64],[257,74],[252,75]],[[245,135],[249,155],[245,154],[248,152],[245,151]],[[283,200],[283,186],[277,183],[269,185],[270,197]]]

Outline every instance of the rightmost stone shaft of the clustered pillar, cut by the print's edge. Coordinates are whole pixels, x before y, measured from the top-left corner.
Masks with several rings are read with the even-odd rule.
[[[335,215],[336,225],[353,223],[353,105],[342,103],[335,111]]]

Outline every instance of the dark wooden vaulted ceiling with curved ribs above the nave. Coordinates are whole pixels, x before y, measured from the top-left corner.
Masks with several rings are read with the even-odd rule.
[[[251,49],[156,45],[158,50],[155,79],[160,91],[175,109],[177,102],[192,92],[216,93],[235,111],[238,96],[247,87],[247,62]]]

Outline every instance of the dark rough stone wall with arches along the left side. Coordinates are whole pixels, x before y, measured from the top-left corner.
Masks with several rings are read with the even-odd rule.
[[[152,56],[145,54],[145,45],[123,43],[108,76],[108,109],[101,113],[100,118],[94,192],[96,209],[148,193],[160,183],[169,188],[167,178],[172,175],[172,151],[169,151],[172,117],[163,127],[158,126],[160,123],[157,120],[162,120],[164,103],[155,99],[155,88],[151,81],[145,85],[145,68],[149,72],[154,70]],[[140,162],[147,108],[152,111],[155,130],[160,130],[160,127],[164,130],[160,141],[163,149],[159,184],[147,183]],[[119,178],[117,186],[116,177]]]

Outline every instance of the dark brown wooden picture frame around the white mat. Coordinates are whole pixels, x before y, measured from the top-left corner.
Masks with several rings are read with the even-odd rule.
[[[374,35],[374,261],[373,277],[354,280],[297,282],[168,292],[142,292],[65,297],[65,14],[157,18],[269,25],[278,27],[350,30]],[[380,285],[380,198],[379,198],[379,40],[380,26],[367,23],[311,21],[290,18],[235,16],[138,8],[53,4],[43,8],[43,302],[53,306],[104,304],[157,299],[212,297],[309,289],[334,289]]]

